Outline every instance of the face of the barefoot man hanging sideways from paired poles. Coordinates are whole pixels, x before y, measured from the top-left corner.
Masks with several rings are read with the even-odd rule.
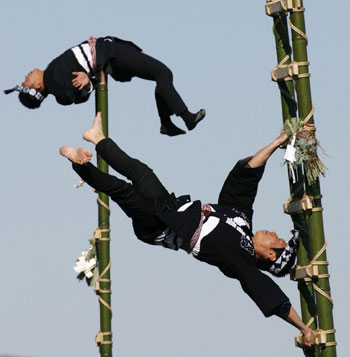
[[[256,253],[265,259],[274,260],[273,256],[275,252],[273,248],[284,249],[287,246],[287,242],[279,238],[275,232],[266,230],[257,231],[254,235],[254,248]]]

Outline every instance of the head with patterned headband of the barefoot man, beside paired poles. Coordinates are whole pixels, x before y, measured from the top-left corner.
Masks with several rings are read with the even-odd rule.
[[[275,232],[257,231],[253,237],[253,244],[258,268],[275,276],[289,273],[296,258],[298,236],[299,232],[293,230],[292,238],[287,243]]]

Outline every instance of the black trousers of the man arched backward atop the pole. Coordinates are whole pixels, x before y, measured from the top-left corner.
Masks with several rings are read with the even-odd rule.
[[[139,51],[127,43],[118,43],[118,62],[130,77],[156,82],[155,97],[160,117],[180,115],[187,106],[173,85],[171,70],[157,59]]]

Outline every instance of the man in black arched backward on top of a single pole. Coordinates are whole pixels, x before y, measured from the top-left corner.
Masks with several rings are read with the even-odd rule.
[[[134,43],[111,36],[90,37],[55,58],[44,71],[32,70],[21,86],[5,93],[19,91],[21,103],[28,108],[38,108],[48,94],[53,94],[62,105],[79,104],[89,99],[99,70],[119,82],[131,81],[133,77],[156,82],[155,97],[162,134],[185,134],[170,120],[173,114],[180,116],[189,130],[194,129],[205,116],[204,109],[197,113],[188,111],[173,86],[172,72],[168,67],[144,54]]]

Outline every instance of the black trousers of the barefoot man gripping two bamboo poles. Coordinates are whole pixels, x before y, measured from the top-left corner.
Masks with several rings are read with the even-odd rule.
[[[112,139],[100,141],[96,151],[107,164],[132,183],[104,173],[91,163],[73,163],[73,169],[90,186],[110,196],[121,207],[132,219],[139,239],[153,244],[153,239],[165,228],[153,213],[165,210],[171,195],[153,170],[128,156]]]

